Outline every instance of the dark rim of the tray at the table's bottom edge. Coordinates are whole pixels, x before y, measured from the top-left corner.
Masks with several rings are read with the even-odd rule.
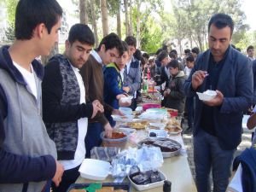
[[[69,192],[71,189],[84,189],[89,185],[90,183],[73,183],[67,189],[67,192]],[[102,183],[102,187],[113,187],[113,189],[124,189],[127,190],[127,192],[131,192],[130,183]]]

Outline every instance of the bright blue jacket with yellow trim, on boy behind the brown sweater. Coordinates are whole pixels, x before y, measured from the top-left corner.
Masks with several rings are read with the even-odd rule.
[[[104,102],[117,109],[119,101],[116,96],[124,92],[119,68],[114,63],[108,64],[104,70]]]

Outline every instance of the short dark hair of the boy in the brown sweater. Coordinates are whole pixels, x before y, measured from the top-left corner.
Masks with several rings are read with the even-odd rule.
[[[119,51],[119,55],[123,55],[124,50],[123,50],[122,41],[120,40],[119,36],[114,32],[111,32],[107,36],[102,38],[102,41],[99,44],[97,50],[101,49],[102,44],[105,45],[105,51],[107,51],[108,49],[116,48]]]

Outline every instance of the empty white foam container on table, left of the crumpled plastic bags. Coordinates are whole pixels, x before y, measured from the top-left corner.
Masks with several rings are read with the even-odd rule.
[[[110,163],[104,160],[84,159],[79,168],[81,177],[102,181],[108,177]]]

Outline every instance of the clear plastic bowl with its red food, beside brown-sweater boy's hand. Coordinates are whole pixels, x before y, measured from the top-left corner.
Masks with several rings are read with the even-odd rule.
[[[116,148],[125,148],[125,145],[128,141],[129,133],[123,130],[115,130],[112,133],[112,137],[109,138],[106,136],[105,131],[102,131],[102,145],[103,147],[116,147]]]

